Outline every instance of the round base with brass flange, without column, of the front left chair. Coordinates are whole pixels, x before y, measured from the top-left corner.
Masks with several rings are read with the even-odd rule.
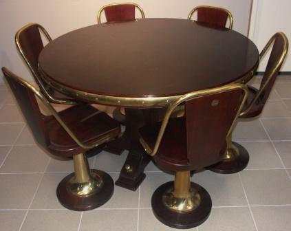
[[[106,203],[114,192],[113,179],[101,170],[91,170],[89,184],[74,184],[72,181],[74,173],[67,175],[56,188],[58,201],[69,210],[86,211],[98,208]]]

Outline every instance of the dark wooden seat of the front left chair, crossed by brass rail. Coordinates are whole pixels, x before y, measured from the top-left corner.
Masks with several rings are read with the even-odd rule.
[[[58,114],[80,142],[85,144],[93,144],[108,134],[116,137],[120,133],[120,125],[116,120],[88,104],[77,104]],[[67,156],[85,151],[54,118],[47,120],[46,125],[52,152],[58,155],[65,152]]]

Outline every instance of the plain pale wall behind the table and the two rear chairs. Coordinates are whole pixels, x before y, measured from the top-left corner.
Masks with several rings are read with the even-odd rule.
[[[121,0],[122,1],[122,0]],[[14,34],[26,23],[43,25],[52,38],[96,23],[98,9],[105,0],[0,0],[0,67],[32,80],[14,45]],[[137,0],[146,17],[186,19],[197,5],[227,8],[235,19],[233,29],[247,34],[251,0]],[[2,76],[0,74],[0,76]],[[0,82],[3,81],[0,78]]]

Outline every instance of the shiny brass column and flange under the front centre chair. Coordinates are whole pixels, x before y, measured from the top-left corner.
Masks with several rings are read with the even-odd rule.
[[[190,186],[190,171],[177,172],[174,188],[164,192],[162,202],[175,212],[190,212],[200,205],[200,195]]]

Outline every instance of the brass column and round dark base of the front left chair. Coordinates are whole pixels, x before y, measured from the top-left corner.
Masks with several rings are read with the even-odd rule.
[[[106,203],[114,192],[114,181],[101,170],[89,170],[83,153],[74,155],[75,172],[67,175],[56,189],[58,201],[69,210],[85,211]]]

